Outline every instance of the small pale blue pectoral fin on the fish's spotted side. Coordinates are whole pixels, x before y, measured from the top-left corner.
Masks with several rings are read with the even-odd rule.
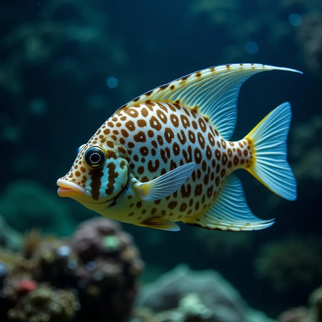
[[[139,198],[142,200],[153,201],[165,198],[185,183],[194,171],[194,166],[194,162],[184,164],[151,181],[145,183],[138,181],[133,187],[137,189]]]

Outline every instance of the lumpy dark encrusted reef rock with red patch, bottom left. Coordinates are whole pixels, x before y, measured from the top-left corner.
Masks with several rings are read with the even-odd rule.
[[[131,236],[103,217],[68,239],[33,232],[21,253],[0,252],[0,320],[124,321],[142,268]]]

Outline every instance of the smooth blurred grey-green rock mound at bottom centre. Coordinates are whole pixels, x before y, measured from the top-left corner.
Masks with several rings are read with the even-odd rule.
[[[133,322],[274,322],[249,308],[218,272],[185,264],[142,287],[136,304]]]

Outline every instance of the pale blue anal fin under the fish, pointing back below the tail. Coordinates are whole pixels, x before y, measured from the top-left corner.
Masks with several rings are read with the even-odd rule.
[[[188,217],[183,222],[208,229],[247,231],[267,228],[273,220],[261,220],[251,213],[242,183],[230,174],[213,206],[201,216]]]

